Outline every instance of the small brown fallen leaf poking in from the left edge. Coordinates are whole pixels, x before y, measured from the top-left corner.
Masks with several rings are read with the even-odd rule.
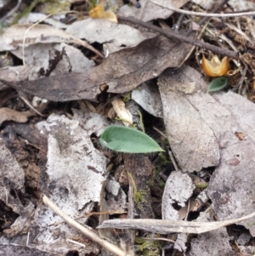
[[[34,114],[31,111],[14,111],[8,107],[0,108],[0,125],[4,121],[12,120],[14,122],[26,122],[28,117],[32,117]]]

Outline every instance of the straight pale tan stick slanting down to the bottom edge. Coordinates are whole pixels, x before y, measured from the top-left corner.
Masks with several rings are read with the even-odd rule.
[[[118,256],[126,256],[126,253],[119,247],[116,247],[116,245],[112,244],[111,242],[105,241],[101,237],[97,236],[92,232],[91,230],[86,229],[84,226],[80,225],[77,221],[74,219],[71,219],[68,215],[66,215],[60,208],[58,208],[54,202],[52,202],[47,196],[42,196],[42,202],[48,208],[51,208],[54,213],[58,214],[62,219],[65,219],[65,221],[71,225],[72,227],[76,228],[77,230],[81,231],[82,234],[85,236],[88,236],[89,239],[91,239],[94,242],[97,242],[101,247],[105,247],[109,252],[114,253]]]

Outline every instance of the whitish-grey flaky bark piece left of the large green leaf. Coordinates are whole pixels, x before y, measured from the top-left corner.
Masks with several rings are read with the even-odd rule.
[[[94,148],[87,131],[79,122],[54,114],[42,122],[43,130],[49,131],[48,190],[55,195],[67,190],[65,204],[70,203],[75,212],[88,202],[99,202],[106,159]]]

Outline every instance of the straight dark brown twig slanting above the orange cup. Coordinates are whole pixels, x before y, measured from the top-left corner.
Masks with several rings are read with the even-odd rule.
[[[195,39],[195,38],[185,37],[184,35],[180,35],[180,34],[178,34],[176,32],[173,32],[173,31],[167,31],[167,30],[161,29],[158,26],[151,25],[151,24],[146,23],[142,20],[137,20],[133,17],[123,17],[123,16],[118,15],[118,20],[129,22],[129,23],[139,25],[139,26],[143,26],[143,27],[145,27],[145,28],[147,28],[151,31],[159,32],[165,37],[169,37],[169,38],[172,38],[172,39],[175,38],[175,39],[178,39],[179,41],[184,42],[184,43],[190,43],[190,44],[198,46],[200,48],[206,48],[207,50],[212,51],[212,53],[214,53],[214,54],[220,54],[220,55],[228,56],[232,59],[238,59],[238,54],[235,53],[234,51],[231,51],[231,50],[227,49],[227,48],[219,48],[218,46],[214,46],[214,45],[209,44],[209,43],[204,43],[201,40],[198,40],[198,39]]]

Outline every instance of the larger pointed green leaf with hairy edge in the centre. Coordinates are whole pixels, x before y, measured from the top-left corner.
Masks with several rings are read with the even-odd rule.
[[[99,139],[102,146],[125,153],[150,153],[163,151],[154,139],[133,128],[112,125]]]

